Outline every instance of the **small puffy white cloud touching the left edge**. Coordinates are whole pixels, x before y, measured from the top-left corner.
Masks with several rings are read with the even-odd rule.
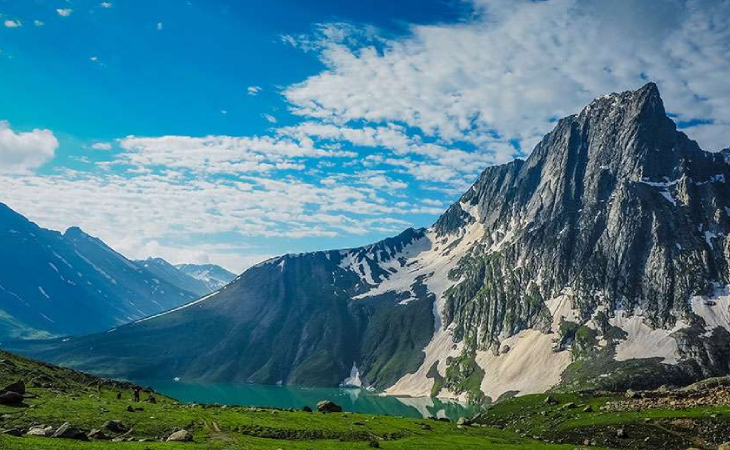
[[[50,130],[18,133],[0,121],[0,172],[36,168],[53,158],[57,148],[58,140]]]

